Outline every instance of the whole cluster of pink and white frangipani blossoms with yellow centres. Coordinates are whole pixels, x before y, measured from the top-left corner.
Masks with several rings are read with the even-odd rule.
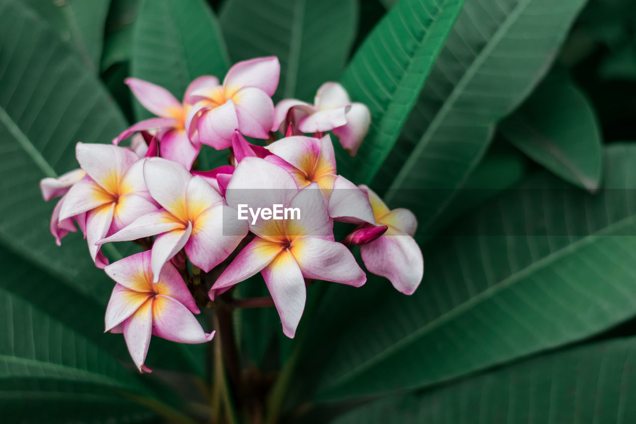
[[[370,125],[366,106],[329,82],[314,104],[286,99],[274,107],[279,72],[275,57],[239,62],[223,83],[197,78],[183,102],[128,78],[157,118],[132,125],[113,145],[78,143],[80,169],[41,181],[47,201],[61,196],[51,222],[57,243],[77,224],[95,265],[116,281],[106,331],[123,333],[140,371],[150,371],[144,361],[151,334],[180,343],[214,336],[193,316],[199,309],[192,293],[200,284],[190,270],[215,276],[207,286],[212,301],[260,272],[289,337],[300,322],[308,281],[366,281],[347,246],[361,246],[366,269],[400,292],[413,293],[422,279],[413,213],[389,210],[370,188],[336,171],[326,132],[355,154]],[[285,137],[276,141],[276,131]],[[119,146],[130,136],[130,147]],[[202,145],[229,148],[230,164],[192,169]],[[249,214],[242,217],[243,208]],[[339,242],[334,221],[357,227]],[[119,241],[148,250],[109,264],[100,247]]]

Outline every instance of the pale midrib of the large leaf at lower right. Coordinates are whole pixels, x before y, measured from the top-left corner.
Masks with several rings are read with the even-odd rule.
[[[608,236],[605,233],[612,232],[612,230],[620,229],[622,227],[628,227],[628,225],[633,223],[636,223],[636,214],[627,216],[626,218],[623,218],[617,222],[612,223],[611,225],[608,225],[602,230],[598,230],[597,232],[589,234],[588,236],[585,236],[572,244],[568,244],[560,250],[553,251],[549,255],[537,260],[536,262],[532,262],[532,264],[521,269],[515,274],[502,279],[499,284],[490,286],[478,295],[471,297],[471,299],[468,299],[466,302],[454,307],[453,309],[450,309],[450,311],[446,313],[441,314],[440,316],[438,316],[438,318],[432,320],[423,327],[420,327],[420,329],[415,330],[415,332],[408,334],[408,336],[404,337],[397,343],[394,343],[385,350],[380,351],[380,353],[378,353],[377,355],[374,355],[363,363],[356,365],[356,367],[352,368],[350,371],[344,372],[340,375],[340,377],[333,379],[333,381],[331,381],[331,383],[329,383],[329,385],[327,385],[326,388],[322,390],[322,392],[326,392],[326,389],[338,386],[343,381],[347,381],[350,378],[355,377],[357,374],[361,374],[361,372],[373,367],[373,365],[377,364],[377,362],[390,357],[392,353],[401,350],[401,348],[410,344],[411,342],[417,341],[417,339],[419,339],[421,336],[424,336],[432,330],[441,327],[441,325],[452,320],[452,318],[455,318],[455,316],[459,316],[465,311],[471,309],[471,307],[473,307],[474,305],[480,304],[483,300],[494,297],[495,294],[501,292],[504,288],[512,286],[514,283],[527,278],[527,276],[533,274],[536,271],[548,267],[548,265],[551,265],[553,262],[556,262],[569,254],[576,253],[576,251],[589,246],[600,237]]]

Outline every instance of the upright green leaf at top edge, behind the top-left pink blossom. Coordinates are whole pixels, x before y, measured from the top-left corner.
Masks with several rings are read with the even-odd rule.
[[[177,99],[202,75],[223,79],[228,55],[216,17],[203,0],[144,0],[132,37],[132,76]],[[135,101],[137,119],[152,114]]]

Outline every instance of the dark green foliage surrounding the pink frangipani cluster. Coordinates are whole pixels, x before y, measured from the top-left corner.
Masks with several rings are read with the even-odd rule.
[[[415,211],[425,258],[410,297],[318,282],[294,340],[235,313],[244,367],[285,370],[284,422],[636,421],[632,0],[0,0],[3,422],[199,416],[207,346],[153,339],[139,376],[102,333],[113,283],[81,236],[55,246],[38,181],[148,117],[125,77],[181,98],[264,55],[275,101],[338,80],[369,106],[339,171]]]

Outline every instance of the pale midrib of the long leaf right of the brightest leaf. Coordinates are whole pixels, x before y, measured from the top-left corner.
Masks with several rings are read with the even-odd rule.
[[[509,13],[509,15],[506,17],[504,22],[499,25],[499,28],[497,29],[497,31],[495,31],[492,38],[490,38],[487,45],[475,57],[475,60],[473,61],[471,66],[466,69],[466,73],[464,73],[457,85],[455,85],[455,87],[453,88],[450,95],[448,95],[446,101],[439,109],[439,112],[435,115],[435,117],[431,121],[431,124],[427,127],[426,131],[424,131],[424,134],[422,134],[422,137],[420,137],[417,145],[415,145],[413,152],[411,152],[411,155],[408,157],[408,159],[406,159],[404,166],[398,171],[396,178],[394,178],[394,180],[392,181],[389,189],[387,190],[387,194],[385,195],[386,202],[392,201],[394,193],[396,193],[395,189],[399,188],[404,183],[404,181],[408,178],[408,174],[410,174],[411,169],[417,166],[417,163],[420,159],[420,156],[424,152],[424,149],[429,145],[432,136],[439,129],[448,113],[450,113],[450,110],[455,105],[457,99],[459,99],[460,95],[464,93],[464,89],[466,88],[466,86],[473,80],[473,77],[476,75],[476,73],[483,65],[483,63],[488,59],[488,57],[490,57],[490,53],[492,53],[495,47],[499,45],[510,27],[516,23],[516,20],[520,17],[523,11],[525,11],[527,6],[530,4],[530,1],[531,0],[522,0],[515,6],[511,13]],[[471,166],[469,167],[469,169],[473,169],[479,159],[479,157],[474,158],[471,161]],[[458,187],[461,187],[462,183],[464,182],[464,180],[466,180],[469,174],[470,173],[466,173],[464,175],[464,178],[462,178],[462,181],[460,181]],[[443,202],[443,204],[439,206],[434,217],[439,215],[440,211],[445,208],[445,205],[450,201],[451,198],[452,196],[450,196],[446,202]],[[429,223],[432,222],[434,217],[429,220]]]

